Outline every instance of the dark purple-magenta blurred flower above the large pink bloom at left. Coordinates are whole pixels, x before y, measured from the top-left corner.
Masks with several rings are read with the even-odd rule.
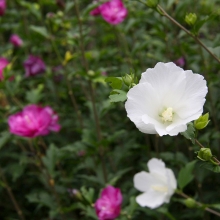
[[[25,76],[34,76],[43,73],[46,66],[40,57],[29,55],[28,59],[24,61]]]

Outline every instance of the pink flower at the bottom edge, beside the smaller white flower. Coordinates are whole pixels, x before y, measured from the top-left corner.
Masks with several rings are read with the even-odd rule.
[[[101,197],[95,203],[95,210],[99,220],[113,220],[121,211],[121,190],[107,186],[102,190]]]

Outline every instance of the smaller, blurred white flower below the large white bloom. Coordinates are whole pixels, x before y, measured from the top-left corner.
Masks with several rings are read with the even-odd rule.
[[[169,203],[177,183],[173,171],[166,168],[162,160],[153,158],[147,166],[150,173],[142,171],[134,176],[134,187],[143,192],[136,197],[136,201],[142,207],[155,209]]]

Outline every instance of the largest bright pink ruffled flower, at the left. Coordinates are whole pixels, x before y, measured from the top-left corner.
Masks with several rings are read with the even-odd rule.
[[[10,132],[22,137],[37,137],[58,132],[58,115],[49,107],[28,105],[23,111],[11,115],[8,118]]]

